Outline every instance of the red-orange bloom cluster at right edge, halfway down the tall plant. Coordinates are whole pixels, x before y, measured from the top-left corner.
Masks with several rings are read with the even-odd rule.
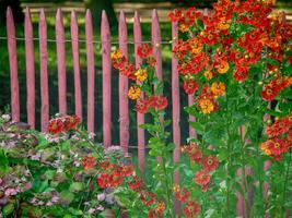
[[[266,128],[268,140],[260,145],[260,149],[279,161],[283,154],[292,147],[292,114],[277,119]]]

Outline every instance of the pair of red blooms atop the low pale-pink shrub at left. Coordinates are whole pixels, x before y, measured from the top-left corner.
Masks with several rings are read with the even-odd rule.
[[[80,124],[80,118],[75,114],[57,117],[49,121],[48,132],[50,134],[60,134],[77,129],[79,124]]]

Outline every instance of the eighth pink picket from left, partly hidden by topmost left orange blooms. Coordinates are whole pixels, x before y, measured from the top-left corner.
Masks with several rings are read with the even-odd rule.
[[[128,33],[125,13],[120,11],[118,21],[119,48],[128,58]],[[129,146],[129,104],[128,104],[128,77],[119,74],[119,143],[126,153]]]

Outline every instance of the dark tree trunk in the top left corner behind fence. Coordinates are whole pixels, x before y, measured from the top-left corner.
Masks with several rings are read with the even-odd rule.
[[[15,23],[21,23],[24,20],[22,13],[20,0],[0,0],[0,23],[5,23],[7,21],[7,8],[10,7],[13,13],[13,19]]]

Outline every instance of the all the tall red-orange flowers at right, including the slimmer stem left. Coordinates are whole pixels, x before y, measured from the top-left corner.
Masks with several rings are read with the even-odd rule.
[[[153,206],[139,209],[138,198],[128,205],[130,214],[140,210],[142,216],[145,210],[149,217],[174,217],[176,199],[183,204],[186,217],[235,217],[238,194],[244,199],[246,217],[264,217],[267,213],[283,217],[291,207],[287,196],[291,165],[292,26],[284,14],[271,12],[270,1],[219,0],[208,14],[195,8],[170,13],[182,36],[175,39],[173,52],[183,87],[195,100],[186,111],[196,117],[190,125],[197,137],[188,138],[189,145],[182,147],[190,159],[189,166],[171,160],[174,145],[168,144],[170,134],[165,131],[170,121],[162,119],[167,99],[155,76],[153,48],[138,48],[143,60],[139,69],[121,50],[112,53],[114,68],[135,82],[128,96],[136,100],[136,110],[153,117],[153,123],[141,126],[151,134],[149,155],[153,156],[154,179],[148,185],[154,193],[150,197],[153,204],[144,206]],[[264,134],[267,124],[268,138]],[[268,160],[282,162],[268,168]],[[172,179],[177,169],[188,181],[183,181],[183,186]],[[281,173],[285,177],[281,178]],[[268,195],[264,192],[267,183]],[[133,191],[143,196],[144,189]]]

